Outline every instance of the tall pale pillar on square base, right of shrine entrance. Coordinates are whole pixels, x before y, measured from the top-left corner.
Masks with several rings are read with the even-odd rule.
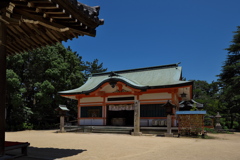
[[[138,100],[134,102],[134,132],[132,132],[132,135],[142,135],[142,132],[140,132],[140,102]]]

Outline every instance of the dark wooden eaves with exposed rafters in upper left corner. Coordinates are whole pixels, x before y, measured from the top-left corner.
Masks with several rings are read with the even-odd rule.
[[[99,7],[75,0],[10,0],[0,13],[8,27],[8,55],[79,36],[94,37],[96,27],[103,24]]]

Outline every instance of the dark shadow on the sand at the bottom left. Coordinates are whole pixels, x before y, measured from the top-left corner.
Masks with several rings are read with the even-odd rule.
[[[29,157],[39,157],[45,158],[48,160],[61,159],[66,157],[71,157],[78,155],[85,149],[60,149],[60,148],[37,148],[37,147],[28,147],[28,156]],[[13,150],[7,153],[8,155],[18,155],[18,150]]]

